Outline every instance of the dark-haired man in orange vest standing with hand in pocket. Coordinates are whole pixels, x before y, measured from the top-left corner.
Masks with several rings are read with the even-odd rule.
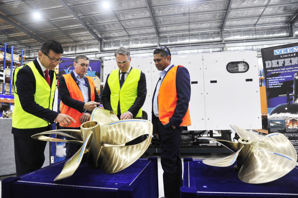
[[[166,47],[153,52],[156,68],[161,71],[152,98],[153,133],[158,133],[161,144],[164,196],[180,197],[182,185],[182,162],[179,146],[181,132],[190,123],[190,75],[183,66],[170,63],[171,53]]]

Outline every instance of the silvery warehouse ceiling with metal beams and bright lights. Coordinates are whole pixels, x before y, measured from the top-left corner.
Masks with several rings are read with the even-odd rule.
[[[110,50],[119,45],[295,37],[298,32],[298,0],[109,0],[108,8],[103,0],[0,2],[0,45],[15,49],[40,46],[36,37],[64,46],[85,44],[89,50],[97,50],[101,41],[98,50]]]

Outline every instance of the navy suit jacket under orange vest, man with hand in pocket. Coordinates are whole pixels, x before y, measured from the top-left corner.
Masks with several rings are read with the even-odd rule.
[[[172,65],[167,73],[172,69],[174,65]],[[165,76],[167,75],[165,74]],[[164,76],[164,78],[165,78]],[[163,78],[163,79],[164,79]],[[157,83],[156,83],[157,86]],[[153,124],[153,132],[157,130],[157,120],[156,116],[153,112],[153,100],[156,92],[156,86],[152,97],[152,124]],[[177,92],[177,105],[175,108],[175,111],[173,113],[173,116],[170,118],[170,123],[165,125],[164,127],[168,128],[173,124],[176,127],[179,127],[181,130],[187,130],[187,127],[180,127],[179,125],[182,123],[182,119],[185,116],[187,109],[188,109],[188,103],[190,101],[190,75],[185,67],[178,67],[177,73],[176,73],[176,92]],[[158,94],[158,93],[157,93]],[[156,131],[155,133],[157,133]]]

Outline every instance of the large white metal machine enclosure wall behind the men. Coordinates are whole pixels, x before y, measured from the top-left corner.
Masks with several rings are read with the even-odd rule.
[[[231,130],[229,124],[245,129],[262,127],[257,52],[173,55],[171,63],[186,67],[190,73],[192,125],[188,130]],[[146,75],[147,98],[142,108],[151,120],[160,71],[153,57],[132,59],[131,66]],[[115,60],[103,62],[103,83],[114,69],[118,69]]]

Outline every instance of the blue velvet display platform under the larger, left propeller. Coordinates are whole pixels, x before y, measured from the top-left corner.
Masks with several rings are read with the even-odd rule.
[[[18,197],[158,197],[157,158],[138,159],[114,174],[80,164],[76,172],[54,182],[66,160],[37,171],[2,180],[2,198]]]

